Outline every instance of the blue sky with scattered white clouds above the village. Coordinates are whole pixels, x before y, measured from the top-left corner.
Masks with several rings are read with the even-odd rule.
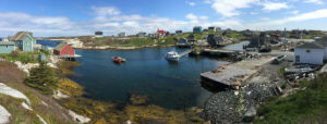
[[[193,26],[237,30],[327,30],[327,0],[1,0],[0,37],[191,32]]]

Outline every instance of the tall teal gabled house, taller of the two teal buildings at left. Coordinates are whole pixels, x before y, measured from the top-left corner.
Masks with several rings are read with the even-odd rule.
[[[14,36],[8,38],[22,51],[34,51],[36,40],[29,32],[19,32]]]

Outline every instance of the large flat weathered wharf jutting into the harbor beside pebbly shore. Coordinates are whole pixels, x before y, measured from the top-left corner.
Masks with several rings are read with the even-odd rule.
[[[218,66],[217,70],[202,73],[201,80],[202,84],[209,87],[231,88],[232,86],[240,86],[257,73],[263,64],[274,59],[275,57],[262,57]]]

